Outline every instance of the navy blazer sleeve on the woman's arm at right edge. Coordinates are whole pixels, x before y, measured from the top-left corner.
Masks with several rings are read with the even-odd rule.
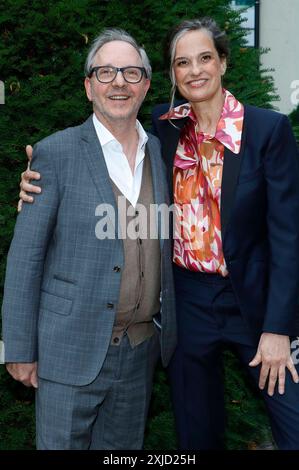
[[[291,335],[299,298],[299,169],[298,148],[284,115],[273,128],[264,169],[270,269],[263,331]]]

